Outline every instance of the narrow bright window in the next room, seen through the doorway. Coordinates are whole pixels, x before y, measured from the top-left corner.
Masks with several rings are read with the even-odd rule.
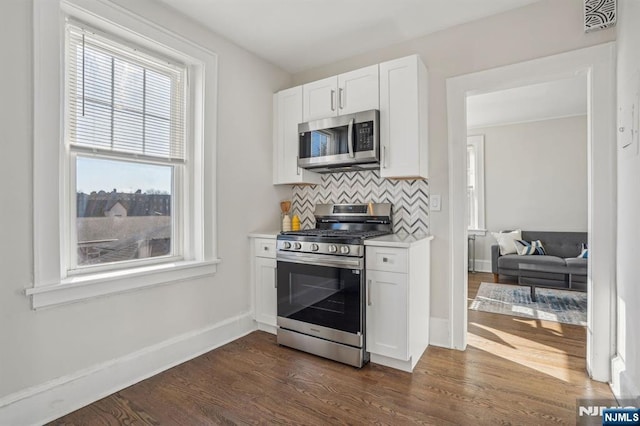
[[[467,138],[469,230],[484,231],[484,135]]]

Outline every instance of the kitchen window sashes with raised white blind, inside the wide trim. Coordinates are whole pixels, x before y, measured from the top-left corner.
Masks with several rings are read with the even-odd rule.
[[[76,23],[66,49],[69,270],[181,256],[186,67]]]

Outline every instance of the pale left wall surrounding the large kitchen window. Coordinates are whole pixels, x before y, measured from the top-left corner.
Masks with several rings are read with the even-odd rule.
[[[11,63],[0,76],[0,419],[3,397],[248,312],[246,235],[277,229],[278,202],[289,193],[271,185],[271,109],[272,93],[291,76],[158,2],[117,2],[219,56],[222,263],[209,278],[31,310],[24,289],[33,274],[32,2],[0,2],[0,51]]]

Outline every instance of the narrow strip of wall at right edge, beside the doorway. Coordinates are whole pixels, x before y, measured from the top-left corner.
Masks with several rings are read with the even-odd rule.
[[[639,88],[640,2],[618,2],[618,103]],[[633,82],[633,83],[632,83]],[[622,104],[625,108],[628,104]],[[636,108],[638,98],[636,97]],[[628,111],[628,109],[627,109]],[[620,119],[620,117],[619,117]],[[637,120],[637,118],[636,118]],[[636,121],[637,123],[637,121]],[[619,134],[620,138],[621,135]],[[618,144],[620,146],[620,144]],[[637,152],[637,147],[635,148]],[[613,366],[613,388],[618,395],[640,396],[640,156],[618,156],[618,264],[617,264],[617,352]]]

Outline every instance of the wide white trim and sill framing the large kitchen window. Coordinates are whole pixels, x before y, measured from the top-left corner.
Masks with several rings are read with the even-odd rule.
[[[214,274],[216,229],[217,55],[108,2],[34,0],[34,187],[33,286],[26,289],[34,309],[121,291],[182,282]],[[188,66],[187,155],[192,169],[180,220],[180,259],[85,274],[69,274],[73,213],[63,141],[64,24],[71,17]],[[205,81],[207,84],[205,84]],[[206,117],[205,117],[206,109]],[[57,161],[55,160],[57,159]]]

